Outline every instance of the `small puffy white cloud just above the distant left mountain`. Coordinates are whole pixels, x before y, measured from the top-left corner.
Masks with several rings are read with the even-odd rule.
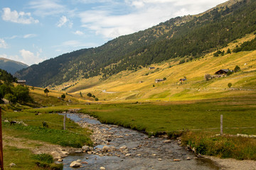
[[[45,60],[42,57],[40,57],[40,52],[36,52],[36,55],[33,52],[24,49],[20,50],[19,52],[21,54],[19,60],[28,65],[38,64],[39,62],[43,62],[43,60]]]

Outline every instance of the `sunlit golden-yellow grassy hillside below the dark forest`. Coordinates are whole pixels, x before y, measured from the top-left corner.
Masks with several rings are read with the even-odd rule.
[[[224,47],[221,50],[225,50],[225,52],[228,48],[233,50],[236,45],[247,40],[252,40],[252,38],[255,38],[255,35],[246,35],[245,38],[232,42],[228,47]],[[210,81],[204,79],[205,74],[213,75],[219,69],[234,69],[236,65],[241,68],[241,72],[232,74],[229,77]],[[225,54],[219,57],[213,57],[213,52],[211,52],[198,60],[184,64],[178,64],[177,60],[169,60],[159,64],[152,64],[151,66],[156,67],[156,69],[149,70],[148,68],[142,68],[137,72],[123,71],[106,80],[100,80],[100,76],[90,79],[80,79],[79,81],[73,82],[76,85],[70,87],[67,91],[77,96],[80,92],[83,96],[91,93],[102,102],[125,100],[194,100],[209,98],[209,96],[218,96],[222,92],[230,96],[234,93],[227,93],[230,90],[228,89],[228,83],[233,84],[232,90],[237,95],[240,95],[242,93],[241,91],[247,89],[256,90],[256,51]],[[157,84],[154,82],[155,79],[163,79],[164,77],[166,77],[166,81]],[[179,79],[183,77],[186,77],[187,81],[179,84]],[[188,91],[188,98],[180,95],[181,93],[186,93],[186,91]],[[251,93],[251,91],[245,92],[244,94]]]

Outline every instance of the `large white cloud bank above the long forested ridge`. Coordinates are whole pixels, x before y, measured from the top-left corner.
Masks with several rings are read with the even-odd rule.
[[[82,11],[79,17],[82,27],[93,30],[105,38],[117,38],[155,26],[176,16],[201,13],[223,2],[225,0],[125,0],[125,4],[122,4],[125,12],[122,14],[116,14],[118,10],[120,11],[120,4],[113,2],[92,8],[90,11]]]

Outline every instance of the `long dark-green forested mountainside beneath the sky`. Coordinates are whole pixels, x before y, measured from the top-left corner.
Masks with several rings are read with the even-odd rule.
[[[96,48],[60,55],[15,74],[31,86],[56,86],[70,80],[108,79],[168,60],[198,59],[256,30],[256,1],[233,0],[196,16],[171,18],[158,26],[124,35]]]

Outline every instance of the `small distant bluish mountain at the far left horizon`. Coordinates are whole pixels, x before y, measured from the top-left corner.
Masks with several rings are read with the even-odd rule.
[[[24,69],[26,67],[28,67],[28,65],[22,62],[16,62],[14,60],[9,60],[9,59],[0,57],[0,69],[4,69],[11,74],[14,74],[18,70]]]

